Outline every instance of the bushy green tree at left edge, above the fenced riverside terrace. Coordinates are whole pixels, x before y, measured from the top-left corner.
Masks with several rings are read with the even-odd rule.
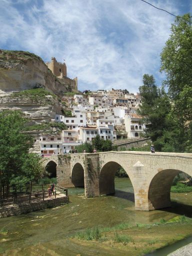
[[[28,120],[19,111],[0,112],[0,186],[14,180],[29,181],[42,171],[39,157],[29,154],[32,136],[24,132]]]

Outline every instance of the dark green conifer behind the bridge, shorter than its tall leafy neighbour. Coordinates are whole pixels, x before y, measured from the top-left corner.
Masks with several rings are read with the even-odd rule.
[[[157,151],[181,150],[180,133],[170,115],[171,103],[164,87],[158,88],[153,76],[148,74],[143,75],[143,83],[139,87],[142,105],[138,113],[146,123],[146,136],[151,138]]]

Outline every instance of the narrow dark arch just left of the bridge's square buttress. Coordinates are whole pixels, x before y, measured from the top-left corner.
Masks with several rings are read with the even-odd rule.
[[[73,165],[71,182],[75,187],[84,187],[84,169],[79,162]]]

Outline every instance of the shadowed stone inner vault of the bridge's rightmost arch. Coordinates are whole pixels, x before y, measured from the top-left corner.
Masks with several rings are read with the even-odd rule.
[[[170,201],[170,188],[174,177],[184,172],[191,176],[191,170],[188,169],[186,172],[183,167],[180,166],[178,169],[165,168],[157,172],[150,181],[148,187],[148,203],[149,210],[160,209],[171,206]]]

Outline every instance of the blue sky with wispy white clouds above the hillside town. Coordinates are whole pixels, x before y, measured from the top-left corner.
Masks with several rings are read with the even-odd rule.
[[[191,0],[147,0],[175,15]],[[79,90],[138,92],[144,73],[156,84],[160,52],[174,16],[141,0],[0,0],[0,48],[65,62]]]

